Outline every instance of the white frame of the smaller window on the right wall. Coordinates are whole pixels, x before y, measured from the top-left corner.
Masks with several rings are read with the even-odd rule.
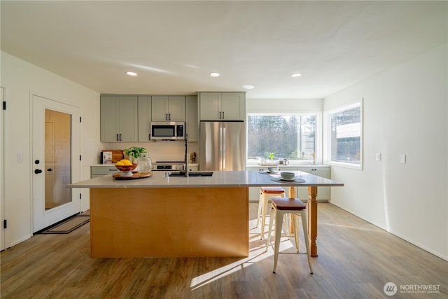
[[[342,111],[346,111],[349,109],[353,109],[355,106],[360,106],[360,141],[359,141],[359,163],[349,163],[349,162],[341,162],[341,161],[334,161],[332,159],[331,154],[331,116],[335,113],[339,113]],[[353,102],[349,102],[346,104],[343,104],[341,106],[337,106],[333,109],[328,109],[323,112],[323,118],[324,118],[324,125],[325,132],[324,135],[324,149],[323,149],[323,164],[325,165],[332,165],[332,166],[338,166],[338,167],[345,167],[345,168],[351,168],[351,169],[358,169],[363,170],[363,161],[364,161],[364,155],[363,155],[363,143],[364,143],[364,121],[363,121],[363,115],[364,115],[364,107],[363,107],[363,99],[358,99]]]

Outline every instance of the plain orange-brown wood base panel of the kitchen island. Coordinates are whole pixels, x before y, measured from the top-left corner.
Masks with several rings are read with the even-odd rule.
[[[90,188],[90,256],[246,257],[248,188]]]

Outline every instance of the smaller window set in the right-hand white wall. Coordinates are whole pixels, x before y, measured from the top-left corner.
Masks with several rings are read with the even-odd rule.
[[[362,168],[362,102],[328,112],[328,162]]]

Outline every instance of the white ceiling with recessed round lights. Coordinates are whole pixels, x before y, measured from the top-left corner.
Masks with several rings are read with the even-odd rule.
[[[101,93],[318,99],[447,28],[447,1],[1,1],[1,50]]]

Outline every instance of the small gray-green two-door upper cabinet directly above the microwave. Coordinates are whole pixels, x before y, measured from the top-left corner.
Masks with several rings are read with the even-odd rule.
[[[184,96],[153,96],[152,121],[185,121]]]

